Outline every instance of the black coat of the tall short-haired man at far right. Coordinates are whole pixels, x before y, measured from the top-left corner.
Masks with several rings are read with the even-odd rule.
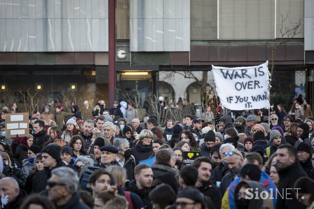
[[[301,168],[300,163],[295,162],[290,166],[279,170],[278,173],[281,175],[278,186],[278,191],[280,192],[281,196],[277,195],[276,208],[305,208],[305,206],[302,205],[297,198],[295,198],[295,190],[290,189],[285,192],[286,188],[294,188],[296,180],[303,176],[307,176],[304,170]],[[283,190],[284,194],[282,194]]]

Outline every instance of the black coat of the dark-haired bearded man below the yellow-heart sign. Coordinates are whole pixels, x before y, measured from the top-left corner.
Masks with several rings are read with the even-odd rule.
[[[202,192],[204,196],[210,197],[210,199],[214,202],[215,208],[221,208],[221,193],[217,186],[208,181],[202,186],[197,187],[197,189]]]

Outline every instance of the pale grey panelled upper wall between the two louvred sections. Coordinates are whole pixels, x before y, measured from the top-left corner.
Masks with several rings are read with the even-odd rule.
[[[130,1],[130,51],[190,51],[190,0]]]

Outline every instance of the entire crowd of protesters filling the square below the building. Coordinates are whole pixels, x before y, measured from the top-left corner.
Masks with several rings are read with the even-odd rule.
[[[303,99],[289,112],[270,102],[269,118],[208,104],[142,125],[124,101],[66,112],[50,99],[26,137],[9,138],[13,107],[0,112],[1,208],[314,208],[314,118]]]

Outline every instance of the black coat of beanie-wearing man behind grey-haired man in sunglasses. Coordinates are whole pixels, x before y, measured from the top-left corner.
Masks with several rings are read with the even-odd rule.
[[[57,162],[57,165],[52,169],[64,166],[62,160]],[[51,170],[48,168],[44,168],[43,170],[39,171],[34,177],[34,185],[33,185],[33,192],[39,193],[46,189],[47,180],[51,177]]]

